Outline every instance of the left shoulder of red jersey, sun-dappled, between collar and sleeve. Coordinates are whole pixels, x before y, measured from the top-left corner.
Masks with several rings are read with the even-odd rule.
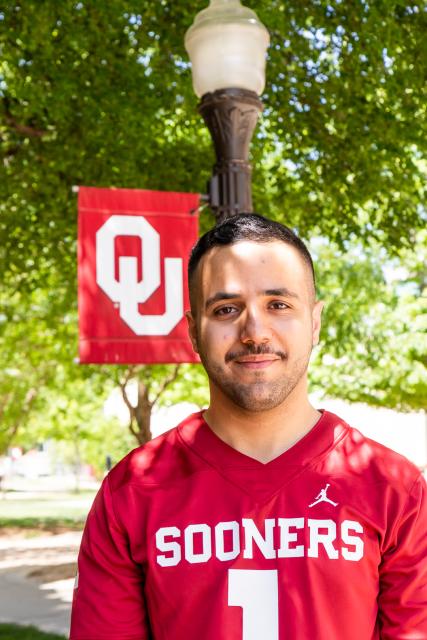
[[[155,485],[177,479],[185,470],[188,457],[180,429],[184,426],[197,429],[201,422],[201,412],[191,414],[170,431],[131,451],[108,474],[111,491],[114,493],[131,483]]]

